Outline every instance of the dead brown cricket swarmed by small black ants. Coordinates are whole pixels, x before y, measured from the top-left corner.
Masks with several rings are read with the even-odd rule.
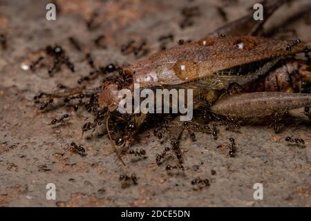
[[[182,164],[186,151],[180,147],[180,137],[185,130],[195,140],[197,131],[217,137],[217,122],[238,128],[238,120],[282,115],[303,107],[309,115],[311,42],[260,36],[263,23],[286,2],[263,1],[263,21],[254,21],[251,13],[198,41],[156,52],[122,68],[118,76],[107,78],[102,88],[62,88],[44,93],[40,99],[45,97],[44,107],[50,106],[55,98],[80,99],[76,105],[86,106],[95,116],[93,122],[85,124],[83,131],[105,125],[121,161],[121,152],[128,153],[134,137],[144,128],[153,127],[160,140],[168,139]],[[305,53],[307,59],[297,59],[295,55],[299,53]],[[204,113],[204,123],[180,122],[180,114],[120,114],[117,111],[122,99],[119,91],[127,88],[133,92],[134,84],[140,84],[141,90],[193,89],[194,110]],[[169,148],[156,157],[157,164],[167,152]]]

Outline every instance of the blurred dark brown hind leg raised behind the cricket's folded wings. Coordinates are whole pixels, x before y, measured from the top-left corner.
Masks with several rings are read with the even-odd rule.
[[[218,37],[220,35],[259,35],[265,21],[267,21],[274,11],[288,1],[290,0],[261,1],[263,5],[263,20],[254,20],[254,11],[252,11],[249,15],[245,15],[245,17],[226,23],[224,26],[214,30],[214,32],[209,33],[207,37]]]

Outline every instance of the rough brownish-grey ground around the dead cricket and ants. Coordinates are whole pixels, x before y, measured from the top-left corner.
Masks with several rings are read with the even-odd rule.
[[[311,126],[301,118],[286,126],[279,134],[267,126],[244,126],[241,133],[220,127],[218,140],[211,135],[196,134],[192,142],[187,133],[182,137],[185,171],[167,172],[167,162],[158,166],[156,154],[169,144],[151,135],[144,148],[146,157],[124,155],[122,166],[112,152],[106,137],[85,135],[82,140],[86,156],[68,151],[77,142],[82,126],[91,115],[72,108],[58,108],[42,113],[32,97],[62,83],[76,86],[77,79],[88,75],[90,67],[84,54],[69,44],[68,37],[79,39],[91,52],[95,64],[130,64],[138,59],[123,55],[122,44],[130,39],[147,40],[149,54],[160,48],[158,38],[173,34],[178,39],[199,39],[225,23],[219,14],[222,7],[227,20],[247,13],[256,1],[57,1],[60,12],[56,21],[45,19],[48,1],[0,1],[0,32],[8,37],[8,48],[0,48],[0,206],[310,206]],[[198,6],[200,15],[194,25],[181,29],[181,9]],[[283,6],[265,27],[296,30],[297,36],[311,40],[310,1],[294,1]],[[86,28],[85,20],[97,10],[99,27]],[[294,17],[299,12],[300,17]],[[292,19],[287,20],[288,17]],[[280,26],[281,25],[281,26]],[[0,33],[0,34],[1,34]],[[93,40],[105,35],[106,48],[98,48]],[[278,34],[289,36],[288,33]],[[48,45],[61,45],[75,64],[75,73],[66,67],[48,77],[47,68],[21,70],[31,52]],[[84,83],[100,86],[100,80]],[[300,111],[301,112],[301,111]],[[68,124],[53,128],[50,120],[68,113]],[[144,135],[150,132],[146,131]],[[142,135],[142,136],[144,136]],[[285,137],[301,137],[306,147],[288,146]],[[216,148],[229,144],[234,137],[236,157],[228,150]],[[122,188],[120,175],[135,173],[138,184]],[[210,186],[197,190],[191,180],[208,179]],[[46,184],[56,186],[56,200],[46,200]],[[262,183],[263,200],[254,200],[253,185]]]

